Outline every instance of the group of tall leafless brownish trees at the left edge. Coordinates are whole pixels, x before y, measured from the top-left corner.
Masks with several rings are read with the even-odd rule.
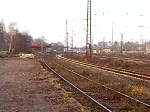
[[[0,21],[0,51],[30,53],[32,41],[28,32],[20,32],[15,22],[11,22],[6,29],[3,20]]]

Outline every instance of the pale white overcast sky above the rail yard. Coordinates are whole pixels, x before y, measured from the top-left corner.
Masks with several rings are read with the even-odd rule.
[[[140,41],[150,39],[149,0],[91,0],[93,43]],[[20,31],[33,38],[65,43],[66,19],[69,45],[73,30],[74,46],[84,46],[86,40],[87,0],[0,0],[0,19],[7,28],[16,22]],[[139,27],[143,26],[143,27]]]

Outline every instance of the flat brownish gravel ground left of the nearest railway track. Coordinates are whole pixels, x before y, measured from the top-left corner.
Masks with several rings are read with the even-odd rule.
[[[86,112],[32,59],[0,59],[0,112]]]

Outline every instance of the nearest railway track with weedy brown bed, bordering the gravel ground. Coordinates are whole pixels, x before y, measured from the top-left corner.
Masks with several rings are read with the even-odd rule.
[[[64,78],[65,75],[60,75],[59,73],[57,73],[55,70],[53,70],[44,61],[44,65],[46,67],[48,67],[54,74],[56,74],[63,81],[67,82],[73,88],[78,90],[78,92],[80,92],[82,95],[86,96],[88,99],[90,99],[96,105],[98,105],[100,108],[102,108],[103,111],[107,111],[107,112],[120,112],[120,111],[123,111],[123,112],[126,112],[126,111],[134,111],[134,109],[139,109],[139,108],[141,108],[141,109],[143,108],[144,109],[143,112],[150,111],[150,105],[149,104],[141,102],[137,99],[134,99],[134,98],[126,95],[126,94],[120,93],[120,92],[118,92],[118,91],[116,91],[112,88],[109,88],[105,85],[102,85],[98,82],[95,82],[95,81],[93,81],[93,80],[91,80],[87,77],[84,77],[83,75],[80,75],[80,74],[78,74],[78,73],[76,73],[76,72],[74,72],[74,71],[72,71],[68,68],[63,67],[62,65],[59,65],[56,62],[53,62],[53,63],[56,64],[61,71],[62,71],[62,68],[63,68],[63,70],[66,70],[66,71],[70,72],[70,74],[72,74],[71,77],[78,76],[77,79],[79,79],[79,82],[74,81],[73,79]],[[57,70],[58,70],[58,68],[57,68]],[[81,83],[80,82],[81,79],[83,79],[82,84],[81,85],[77,84],[77,83]],[[82,85],[84,85],[84,84],[86,85],[87,83],[89,83],[87,81],[92,82],[93,84],[97,84],[98,89],[96,89],[95,92],[90,92],[90,91],[87,92],[87,90],[85,88],[83,89],[81,87]],[[129,104],[130,104],[131,107],[129,106]],[[124,107],[123,107],[123,105],[124,105]],[[126,107],[126,105],[128,105],[129,107],[128,106]],[[121,107],[122,107],[122,109],[121,109]]]

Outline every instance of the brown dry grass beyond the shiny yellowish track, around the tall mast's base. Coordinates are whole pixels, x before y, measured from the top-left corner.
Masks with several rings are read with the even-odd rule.
[[[130,58],[129,56],[124,56],[121,55],[122,57],[127,57]],[[131,55],[133,59],[139,58],[139,59],[149,59],[150,56],[149,55]],[[79,61],[84,61],[84,57],[80,56],[80,55],[68,55],[68,58],[71,59],[75,59],[75,60],[79,60]],[[145,73],[145,74],[149,74],[150,73],[150,63],[133,63],[133,62],[129,62],[129,61],[125,61],[123,59],[112,59],[107,58],[107,59],[100,59],[99,57],[92,57],[92,59],[89,61],[90,63],[93,64],[97,64],[97,65],[104,65],[104,66],[108,66],[108,67],[115,67],[115,68],[120,68],[120,69],[126,69],[126,70],[131,70],[131,71],[136,71],[136,72],[140,72],[140,73]],[[142,69],[141,69],[142,68]]]

